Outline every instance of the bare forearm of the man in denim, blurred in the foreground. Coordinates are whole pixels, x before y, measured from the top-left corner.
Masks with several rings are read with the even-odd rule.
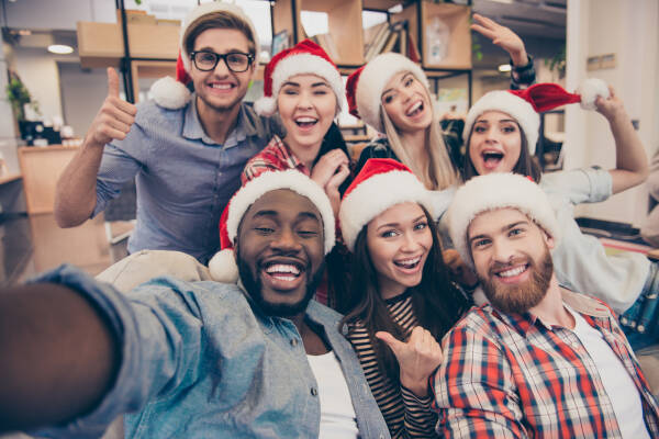
[[[89,413],[119,359],[108,325],[78,292],[52,283],[0,292],[0,432]]]

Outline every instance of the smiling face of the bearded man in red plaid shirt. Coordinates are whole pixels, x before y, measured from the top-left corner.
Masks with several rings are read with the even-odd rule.
[[[479,214],[467,229],[476,272],[492,305],[522,314],[547,294],[554,273],[551,239],[516,209]]]

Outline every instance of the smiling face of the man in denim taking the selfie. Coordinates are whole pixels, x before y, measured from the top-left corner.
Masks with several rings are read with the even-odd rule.
[[[323,222],[305,196],[270,191],[245,213],[236,255],[241,280],[268,315],[291,317],[304,309],[323,273]]]

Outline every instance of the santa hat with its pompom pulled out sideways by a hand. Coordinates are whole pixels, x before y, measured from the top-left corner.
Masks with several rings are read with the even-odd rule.
[[[501,111],[512,116],[526,136],[528,151],[535,154],[540,130],[539,112],[548,111],[568,103],[581,102],[584,110],[595,109],[595,99],[608,98],[608,87],[601,79],[588,79],[578,91],[570,93],[556,83],[536,83],[525,90],[496,90],[485,93],[467,113],[462,138],[465,144],[471,134],[473,123],[487,111]]]

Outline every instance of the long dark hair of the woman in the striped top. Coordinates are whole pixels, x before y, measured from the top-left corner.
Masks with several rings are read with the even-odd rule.
[[[433,235],[433,247],[423,267],[421,283],[409,291],[418,325],[437,340],[442,340],[469,308],[471,302],[449,281],[449,272],[442,258],[437,226],[428,211],[424,206],[421,209]],[[361,228],[355,241],[350,288],[348,294],[339,301],[339,312],[346,314],[339,329],[347,325],[350,331],[356,323],[361,323],[376,351],[378,367],[390,380],[398,382],[398,361],[391,349],[377,339],[375,334],[386,330],[399,340],[405,340],[409,334],[393,320],[378,290],[378,272],[371,262],[367,246],[367,227],[365,225]]]

